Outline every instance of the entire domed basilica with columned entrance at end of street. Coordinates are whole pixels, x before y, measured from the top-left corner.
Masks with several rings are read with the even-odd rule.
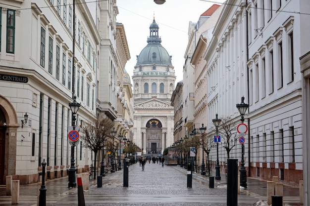
[[[132,76],[134,142],[143,154],[162,154],[173,143],[174,110],[170,99],[176,76],[171,56],[161,45],[158,30],[154,19],[148,44],[137,56]]]

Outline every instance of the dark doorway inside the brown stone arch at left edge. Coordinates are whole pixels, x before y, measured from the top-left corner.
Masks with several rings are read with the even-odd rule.
[[[4,157],[5,157],[5,127],[6,120],[0,108],[0,185],[3,184],[4,177]]]

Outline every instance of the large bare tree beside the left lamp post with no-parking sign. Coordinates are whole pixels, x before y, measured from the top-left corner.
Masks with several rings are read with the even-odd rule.
[[[81,139],[86,147],[95,153],[94,179],[96,179],[97,154],[104,147],[107,138],[110,138],[110,132],[114,123],[110,119],[97,119],[95,122],[89,122],[81,128]]]

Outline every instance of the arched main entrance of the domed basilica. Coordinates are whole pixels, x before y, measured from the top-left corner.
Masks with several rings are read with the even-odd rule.
[[[157,119],[151,119],[147,125],[147,154],[160,154],[162,150],[162,124]]]

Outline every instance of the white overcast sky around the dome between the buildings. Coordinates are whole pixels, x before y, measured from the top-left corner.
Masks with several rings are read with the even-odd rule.
[[[129,75],[132,77],[136,55],[147,45],[149,27],[155,14],[161,45],[172,56],[177,76],[175,85],[182,81],[189,22],[196,23],[211,5],[221,5],[222,2],[224,0],[166,0],[164,4],[157,5],[153,0],[117,0],[119,14],[116,21],[124,25],[131,56],[125,67]]]

